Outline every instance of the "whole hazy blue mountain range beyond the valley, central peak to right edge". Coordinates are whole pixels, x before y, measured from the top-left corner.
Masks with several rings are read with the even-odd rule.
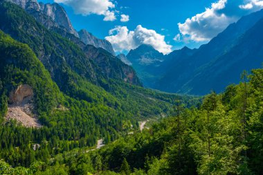
[[[263,10],[242,17],[199,49],[162,55],[151,46],[131,50],[127,59],[144,86],[172,93],[205,95],[237,84],[242,71],[263,62]]]

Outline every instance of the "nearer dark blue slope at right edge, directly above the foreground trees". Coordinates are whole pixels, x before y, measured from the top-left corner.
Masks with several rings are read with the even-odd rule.
[[[263,63],[263,18],[239,37],[237,44],[224,55],[197,70],[184,89],[204,94],[210,89],[220,92],[226,84],[237,83],[242,71],[260,68]],[[206,86],[201,86],[201,84]]]

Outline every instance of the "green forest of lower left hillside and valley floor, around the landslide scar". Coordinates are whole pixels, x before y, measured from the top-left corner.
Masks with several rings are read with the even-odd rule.
[[[176,99],[185,105],[199,102],[199,98],[144,91],[118,80],[109,82],[112,93],[82,80],[75,88],[88,86],[91,100],[80,100],[60,91],[28,45],[1,31],[0,52],[0,157],[13,167],[30,167],[36,160],[48,163],[59,153],[92,147],[99,138],[105,143],[114,141],[137,131],[138,120],[169,113]],[[33,87],[34,112],[43,127],[26,128],[15,120],[5,120],[9,93],[20,84]],[[36,144],[41,146],[34,151]]]

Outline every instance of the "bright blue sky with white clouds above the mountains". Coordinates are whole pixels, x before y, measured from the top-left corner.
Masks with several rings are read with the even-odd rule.
[[[139,44],[151,44],[165,54],[183,46],[197,48],[228,24],[263,8],[262,0],[39,1],[60,3],[76,30],[84,28],[96,37],[106,37],[118,53]],[[125,22],[120,21],[121,15]]]

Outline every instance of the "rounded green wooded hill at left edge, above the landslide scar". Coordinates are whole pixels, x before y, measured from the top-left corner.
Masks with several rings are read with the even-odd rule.
[[[28,84],[33,88],[35,113],[50,111],[59,103],[61,98],[57,85],[26,44],[15,42],[0,30],[0,52],[1,97],[9,96],[9,92],[20,84]],[[14,100],[9,101],[15,103]],[[1,102],[1,106],[5,104]]]

